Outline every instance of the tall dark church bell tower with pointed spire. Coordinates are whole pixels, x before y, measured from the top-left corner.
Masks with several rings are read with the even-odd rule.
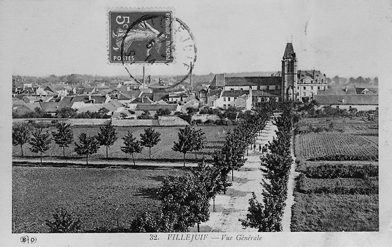
[[[294,101],[297,98],[297,58],[292,43],[286,44],[282,60],[282,100]],[[301,97],[301,96],[300,96]]]

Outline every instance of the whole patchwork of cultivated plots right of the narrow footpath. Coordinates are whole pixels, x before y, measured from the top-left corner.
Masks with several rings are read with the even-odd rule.
[[[323,131],[295,136],[301,175],[291,231],[378,231],[378,125],[360,118],[306,118],[299,126]]]

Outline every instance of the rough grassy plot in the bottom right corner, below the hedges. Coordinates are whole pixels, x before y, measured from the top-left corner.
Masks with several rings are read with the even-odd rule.
[[[378,195],[295,193],[291,231],[378,231]]]

